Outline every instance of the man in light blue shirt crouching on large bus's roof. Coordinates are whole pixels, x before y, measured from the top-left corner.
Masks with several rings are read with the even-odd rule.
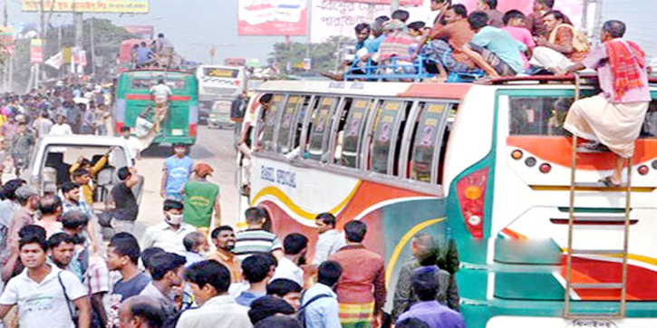
[[[463,46],[463,53],[483,69],[488,76],[514,76],[523,71],[521,52],[527,51],[525,43],[518,42],[510,34],[488,25],[488,14],[474,12],[468,23],[475,36]]]

